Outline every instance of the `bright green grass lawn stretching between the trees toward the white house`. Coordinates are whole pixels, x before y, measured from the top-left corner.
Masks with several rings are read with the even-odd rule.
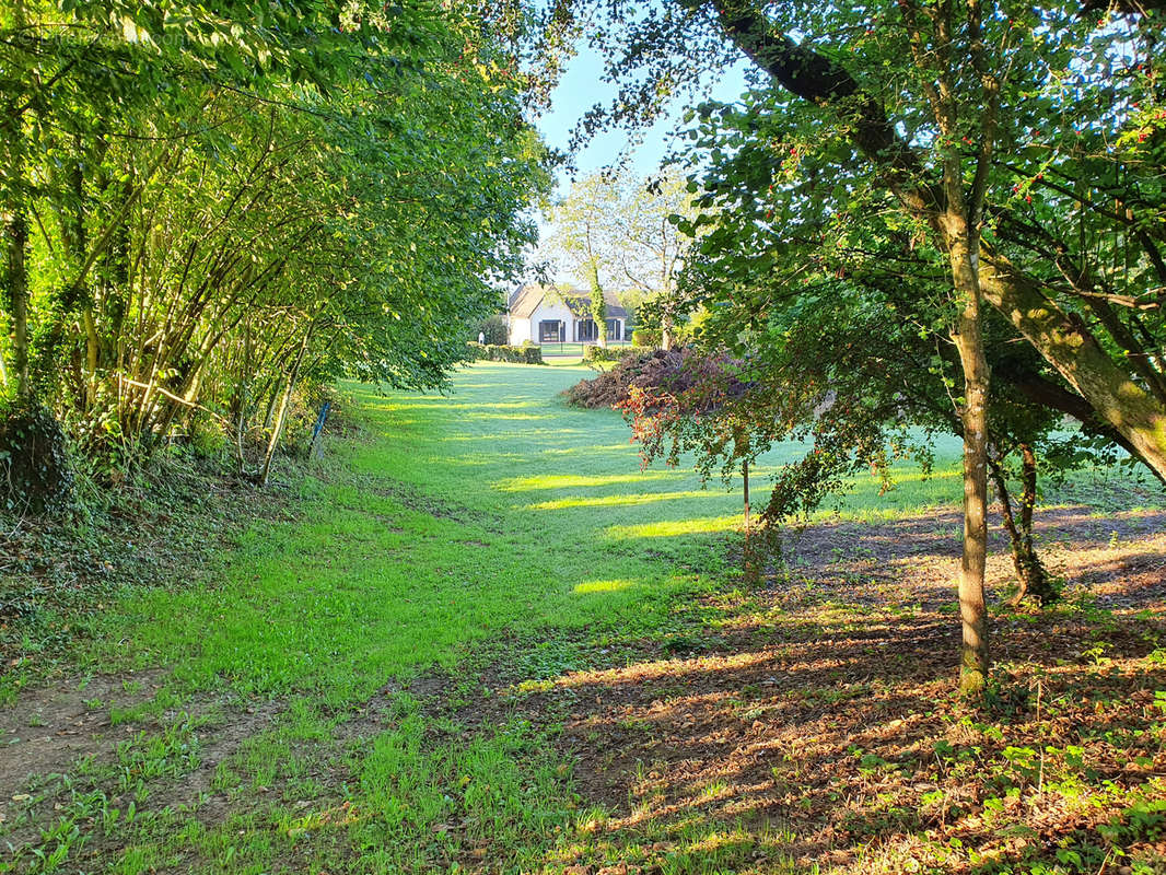
[[[597,652],[618,662],[645,638],[693,635],[712,610],[703,596],[733,584],[724,541],[740,524],[739,484],[641,471],[618,414],[557,400],[588,373],[479,363],[448,396],[347,386],[367,440],[333,446],[295,522],[257,524],[220,580],[145,592],[103,618],[78,682],[122,673],[127,692],[140,677],[160,688],[92,705],[122,741],[21,791],[0,822],[16,848],[0,872],[559,859],[596,817],[550,752],[559,729],[505,710],[468,728],[459,705],[490,693],[465,666],[503,659],[538,688]],[[799,452],[771,454],[754,483]],[[861,478],[829,513],[950,506],[956,456],[941,446],[935,476],[902,469],[885,496]],[[233,746],[216,741],[232,732]],[[694,847],[714,834],[691,830]]]

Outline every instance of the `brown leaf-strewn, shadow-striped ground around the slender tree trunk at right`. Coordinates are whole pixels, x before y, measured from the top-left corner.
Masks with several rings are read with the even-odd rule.
[[[986,874],[1154,860],[1161,825],[1130,812],[1166,796],[1166,606],[1149,576],[1122,584],[1123,567],[1166,559],[1160,533],[1136,531],[1146,522],[1055,518],[1073,580],[1121,588],[1128,610],[1080,592],[1042,612],[997,609],[982,704],[954,691],[954,590],[929,568],[953,551],[936,534],[925,553],[892,525],[854,541],[891,583],[863,584],[840,570],[851,556],[820,552],[792,586],[712,598],[715,629],[640,642],[620,664],[596,657],[534,692],[504,687],[527,719],[562,721],[592,812],[548,864]],[[1101,532],[1115,525],[1116,547]],[[1079,539],[1082,526],[1098,532]]]

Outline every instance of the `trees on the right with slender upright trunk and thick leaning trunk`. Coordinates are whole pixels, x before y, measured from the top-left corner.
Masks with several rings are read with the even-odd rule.
[[[581,0],[555,22],[616,47],[625,88],[584,131],[752,62],[754,90],[690,132],[703,212],[677,222],[704,237],[687,294],[773,418],[813,422],[821,452],[779,487],[881,452],[888,425],[963,436],[969,691],[989,664],[989,478],[1006,488],[1019,460],[1023,530],[1065,414],[1166,477],[1157,6]],[[792,385],[816,386],[800,411]]]

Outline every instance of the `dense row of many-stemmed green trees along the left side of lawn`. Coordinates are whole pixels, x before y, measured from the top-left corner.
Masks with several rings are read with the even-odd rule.
[[[8,398],[122,460],[210,422],[266,481],[304,379],[440,385],[547,184],[512,26],[429,0],[6,4]]]

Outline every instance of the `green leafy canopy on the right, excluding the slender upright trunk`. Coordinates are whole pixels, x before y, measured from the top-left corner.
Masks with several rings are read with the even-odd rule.
[[[793,329],[821,330],[819,294],[842,288],[869,302],[862,316],[874,330],[859,349],[884,338],[901,349],[918,330],[907,382],[899,373],[883,382],[911,397],[918,376],[930,383],[923,394],[934,413],[957,410],[962,382],[949,329],[958,296],[941,218],[950,206],[949,194],[941,194],[947,175],[964,198],[984,198],[983,220],[972,225],[982,225],[976,233],[986,243],[978,253],[981,285],[998,310],[989,327],[992,373],[1007,384],[1004,394],[1027,406],[1025,416],[1035,411],[1030,430],[1041,434],[1069,414],[1083,420],[1087,434],[1135,455],[1130,434],[1138,430],[1142,446],[1158,448],[1150,450],[1157,454],[1151,464],[1161,476],[1152,424],[1166,404],[1156,358],[1164,323],[1137,313],[1166,279],[1161,236],[1149,230],[1166,211],[1154,161],[1166,125],[1152,75],[1160,14],[1095,20],[1074,7],[956,4],[947,20],[912,5],[709,0],[688,5],[691,14],[681,22],[668,8],[633,16],[618,5],[603,7],[604,44],[623,90],[611,107],[589,116],[589,130],[602,119],[623,124],[651,114],[667,96],[684,93],[682,84],[695,88],[718,70],[725,54],[744,49],[759,68],[758,86],[740,100],[689,107],[693,152],[681,163],[695,168],[690,191],[702,209],[675,222],[702,236],[682,285],[686,303],[721,312],[712,345],[722,341],[736,351],[735,344],[752,342],[757,349],[784,343]],[[981,77],[963,76],[974,55],[997,71],[998,105],[985,105]],[[1115,63],[1129,75],[1115,77]],[[813,76],[801,75],[805,65]],[[942,106],[936,82],[949,83],[940,86],[950,89]],[[1105,198],[1137,206],[1096,209]],[[1017,286],[1005,276],[1018,278]],[[1042,289],[1046,300],[1021,304],[1021,286]],[[803,302],[807,292],[812,300]],[[871,316],[888,307],[887,335]],[[1098,355],[1062,356],[1074,341],[1042,341],[1028,321],[1033,314],[1051,315],[1046,328],[1066,338],[1084,332]],[[870,358],[888,351],[870,350]],[[1157,363],[1146,364],[1151,359]],[[934,404],[944,399],[925,374],[941,377],[946,404]],[[1101,391],[1103,383],[1112,391]],[[1126,402],[1123,393],[1140,397]],[[996,449],[1003,444],[1004,455],[1021,430],[1019,419],[995,416]],[[1062,454],[1044,443],[1044,467],[1059,466]]]

